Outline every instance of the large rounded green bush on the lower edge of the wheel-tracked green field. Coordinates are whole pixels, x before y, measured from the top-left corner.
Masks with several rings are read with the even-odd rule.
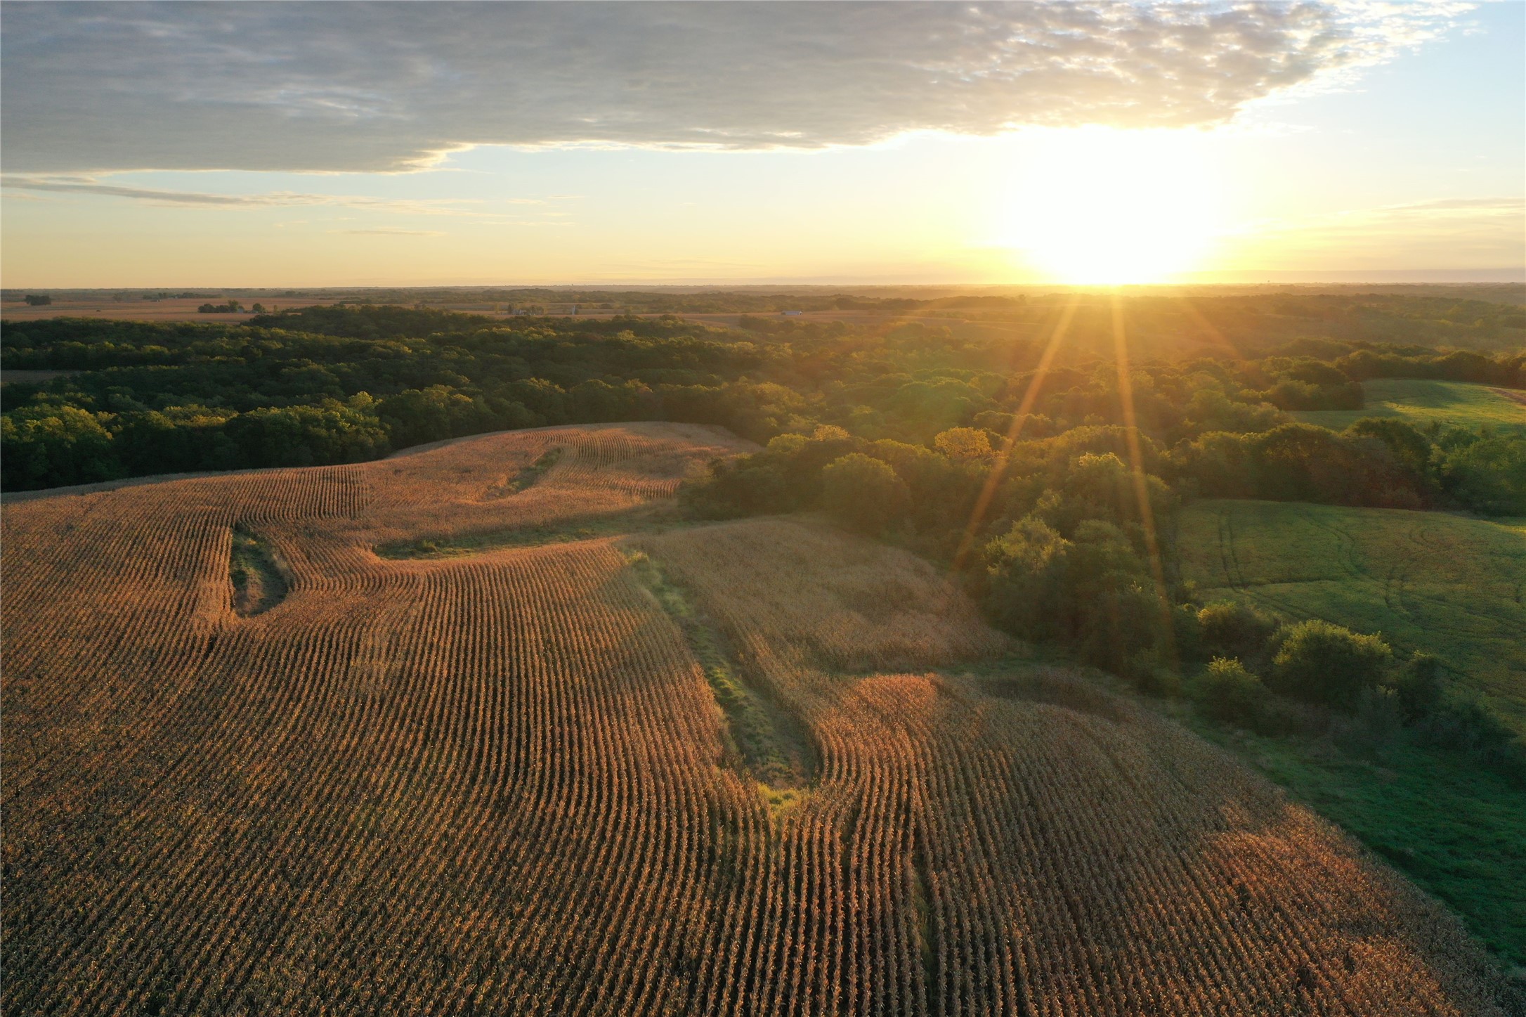
[[[1375,689],[1393,661],[1376,635],[1358,635],[1329,622],[1300,622],[1279,632],[1273,660],[1277,692],[1341,709],[1354,709],[1364,689]]]

